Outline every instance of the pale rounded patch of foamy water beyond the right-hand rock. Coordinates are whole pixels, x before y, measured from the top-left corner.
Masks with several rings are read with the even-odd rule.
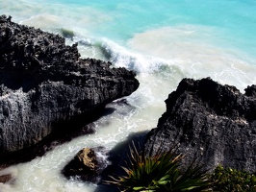
[[[210,76],[241,89],[255,84],[256,60],[242,50],[225,47],[219,36],[216,29],[202,26],[164,27],[137,34],[128,44],[137,53],[179,66],[185,77]]]

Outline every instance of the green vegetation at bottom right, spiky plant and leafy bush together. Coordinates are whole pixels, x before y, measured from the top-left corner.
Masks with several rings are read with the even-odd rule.
[[[201,166],[192,163],[181,168],[182,155],[173,147],[166,153],[161,150],[155,156],[139,153],[133,143],[128,154],[124,172],[110,176],[107,184],[115,184],[124,192],[256,192],[256,176],[245,171],[224,169],[219,165],[209,174]]]

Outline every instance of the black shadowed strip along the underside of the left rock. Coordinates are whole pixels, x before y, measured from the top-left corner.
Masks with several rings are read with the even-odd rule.
[[[97,110],[90,114],[83,114],[76,118],[72,118],[69,121],[56,123],[56,131],[43,138],[38,144],[30,148],[13,152],[8,156],[1,156],[0,170],[13,164],[30,161],[37,156],[43,156],[45,153],[53,150],[56,146],[64,144],[78,136],[94,133],[95,129],[93,122],[114,111],[115,108],[97,108]]]

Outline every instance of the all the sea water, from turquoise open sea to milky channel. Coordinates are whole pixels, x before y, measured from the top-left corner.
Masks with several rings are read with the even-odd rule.
[[[66,180],[64,165],[82,148],[113,149],[134,132],[157,126],[167,95],[183,78],[211,77],[242,92],[256,84],[255,0],[0,0],[13,21],[66,36],[82,58],[110,60],[137,72],[140,88],[113,102],[93,123],[96,132],[74,138],[45,156],[13,165],[1,192],[92,192],[96,185]]]

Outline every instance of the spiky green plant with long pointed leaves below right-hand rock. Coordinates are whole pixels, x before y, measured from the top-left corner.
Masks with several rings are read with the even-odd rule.
[[[126,166],[122,167],[125,174],[119,177],[111,177],[106,181],[115,184],[123,191],[201,191],[209,188],[211,184],[201,167],[193,164],[182,171],[180,162],[182,155],[176,156],[176,150],[172,148],[166,153],[161,150],[155,156],[145,156],[139,153],[133,143],[130,148],[130,157]]]

